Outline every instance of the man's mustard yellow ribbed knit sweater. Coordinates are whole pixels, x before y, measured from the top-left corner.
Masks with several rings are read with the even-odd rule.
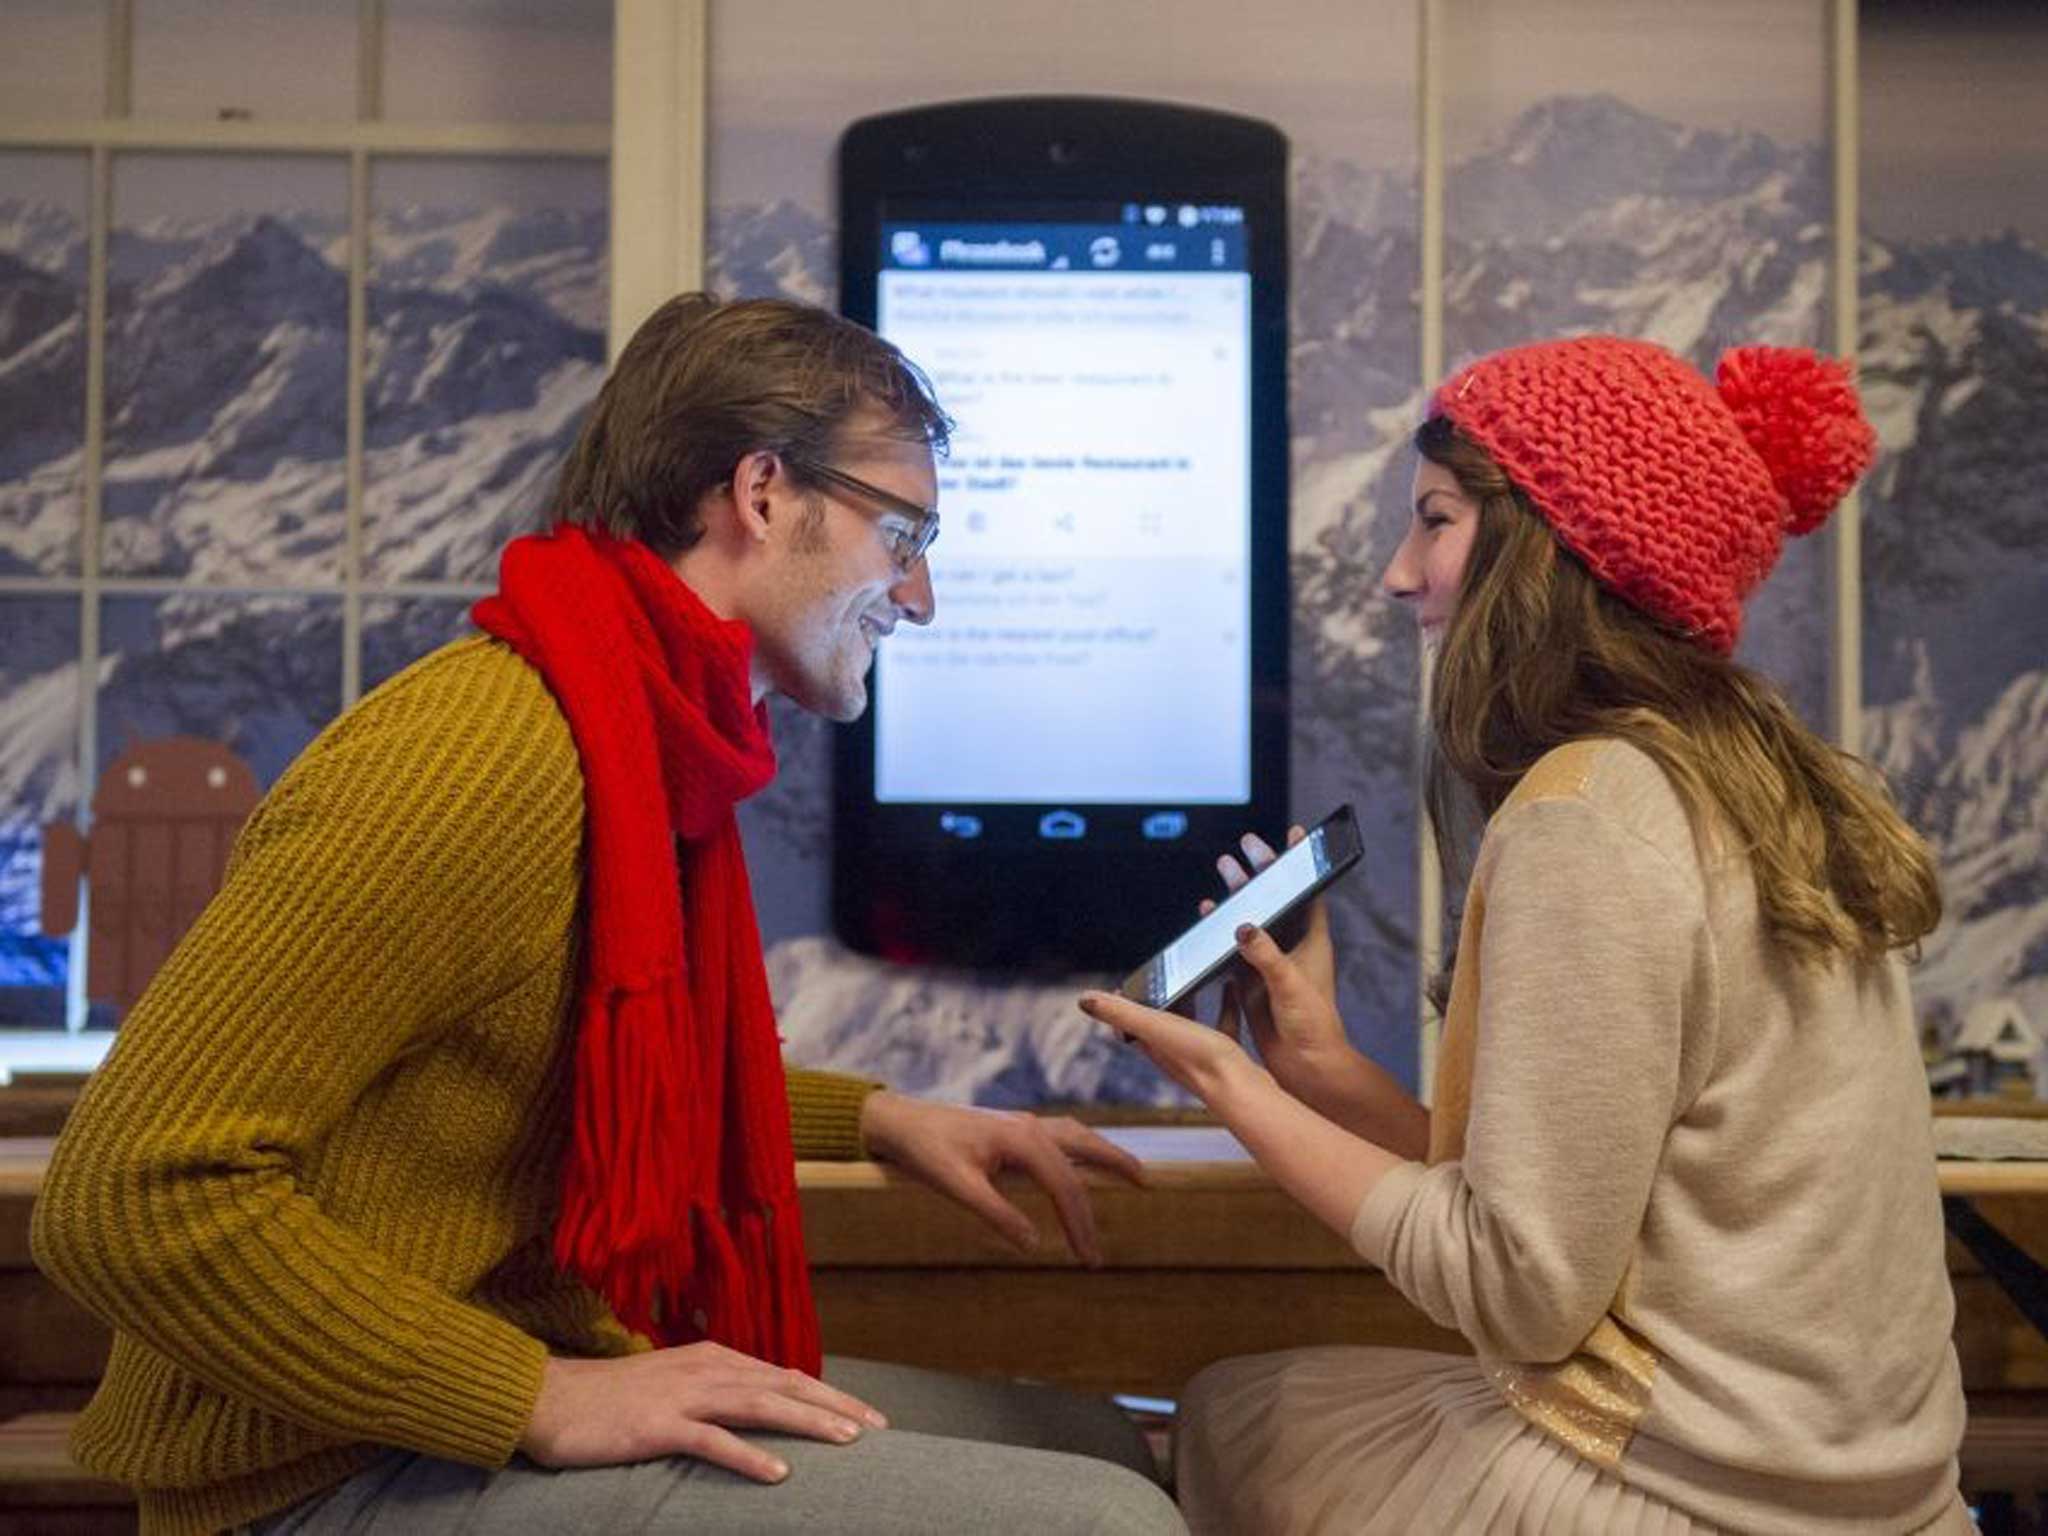
[[[74,1454],[145,1532],[379,1446],[504,1464],[555,1354],[629,1335],[549,1262],[584,782],[537,672],[459,641],[348,711],[236,846],[51,1157],[35,1257],[115,1327]],[[872,1083],[791,1071],[799,1157]]]

